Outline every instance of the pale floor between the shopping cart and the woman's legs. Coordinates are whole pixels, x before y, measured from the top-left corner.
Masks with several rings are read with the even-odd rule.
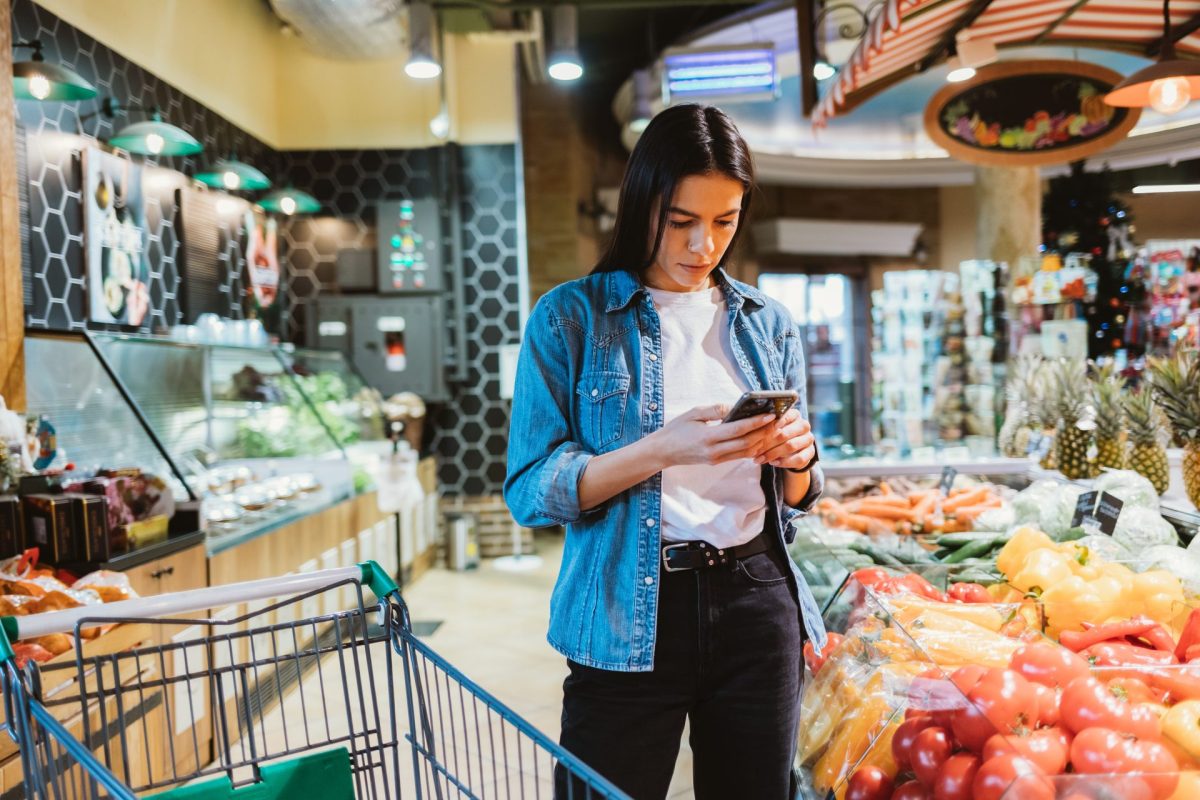
[[[473,572],[433,570],[404,596],[414,622],[442,622],[424,637],[430,646],[557,740],[566,663],[546,643],[546,619],[562,539],[540,535],[538,553],[544,563],[530,572],[502,572],[490,560]],[[668,796],[691,794],[685,732]]]

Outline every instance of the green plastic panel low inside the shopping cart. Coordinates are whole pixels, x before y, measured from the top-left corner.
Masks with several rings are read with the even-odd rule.
[[[268,764],[260,769],[262,781],[234,788],[228,776],[192,783],[148,800],[282,800],[284,798],[320,798],[354,800],[354,775],[350,753],[344,747]]]

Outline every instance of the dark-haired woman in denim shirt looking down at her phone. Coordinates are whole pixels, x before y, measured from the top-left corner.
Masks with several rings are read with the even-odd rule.
[[[752,186],[725,114],[659,114],[607,252],[541,299],[517,366],[505,499],[522,525],[566,527],[562,744],[637,800],[666,795],[685,720],[697,798],[787,798],[803,628],[824,644],[785,552],[822,485],[800,341],[722,269]],[[721,422],[781,389],[800,396],[781,419]]]

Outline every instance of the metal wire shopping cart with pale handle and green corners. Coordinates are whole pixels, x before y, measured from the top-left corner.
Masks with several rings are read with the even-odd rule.
[[[10,642],[113,625],[150,644],[17,668]],[[0,627],[35,800],[626,796],[420,642],[374,563]]]

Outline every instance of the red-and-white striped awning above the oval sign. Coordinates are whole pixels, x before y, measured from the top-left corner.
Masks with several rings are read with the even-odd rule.
[[[914,73],[979,0],[887,0],[812,112],[814,125]],[[1200,0],[1172,0],[1171,25],[1200,14]],[[1163,36],[1162,0],[992,0],[965,29],[997,47],[1074,44],[1144,54]],[[1200,56],[1200,31],[1175,44]]]

